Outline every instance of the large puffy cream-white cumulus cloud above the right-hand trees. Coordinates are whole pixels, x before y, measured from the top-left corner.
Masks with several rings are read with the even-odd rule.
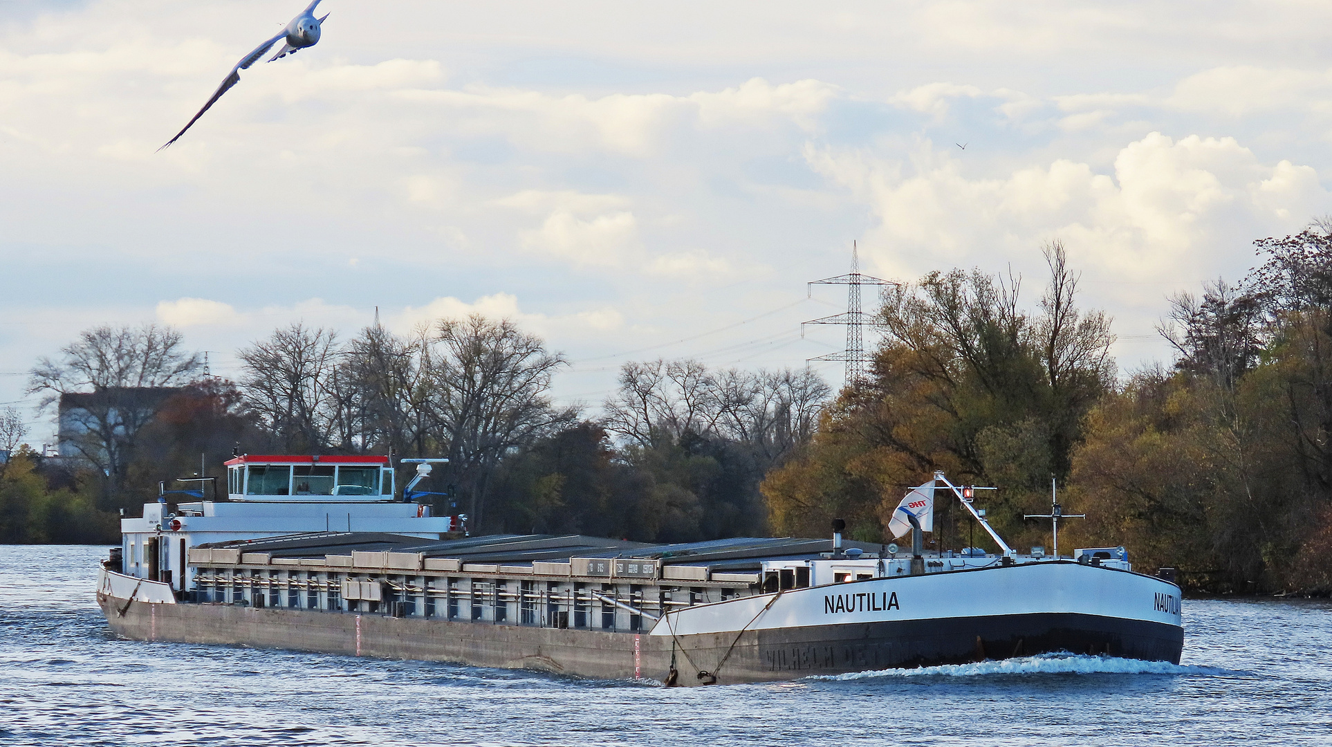
[[[1235,269],[1236,245],[1297,229],[1328,200],[1309,166],[1263,164],[1235,138],[1196,134],[1175,141],[1151,133],[1130,142],[1112,173],[1060,158],[968,178],[958,158],[922,157],[916,173],[900,176],[898,164],[866,153],[809,150],[807,157],[874,209],[882,221],[878,246],[891,248],[878,258],[906,277],[1031,256],[1052,237],[1110,273],[1103,277],[1215,274]]]

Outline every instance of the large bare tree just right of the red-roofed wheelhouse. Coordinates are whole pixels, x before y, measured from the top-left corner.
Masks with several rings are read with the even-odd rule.
[[[547,395],[565,358],[509,320],[473,314],[440,320],[425,364],[429,405],[448,439],[450,470],[469,494],[472,521],[481,525],[500,459],[577,417],[575,410],[557,410]]]

